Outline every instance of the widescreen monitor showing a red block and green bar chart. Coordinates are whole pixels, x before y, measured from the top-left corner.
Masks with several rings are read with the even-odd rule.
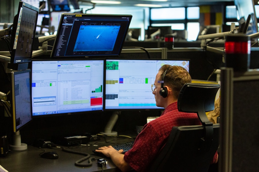
[[[32,60],[32,117],[103,110],[104,60]]]

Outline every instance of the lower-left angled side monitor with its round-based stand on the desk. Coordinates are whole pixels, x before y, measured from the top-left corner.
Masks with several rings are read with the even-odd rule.
[[[13,144],[11,150],[27,149],[21,143],[19,130],[32,121],[31,70],[11,72],[11,114],[13,117]]]

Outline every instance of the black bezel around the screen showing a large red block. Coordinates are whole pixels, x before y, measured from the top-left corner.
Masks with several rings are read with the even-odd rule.
[[[104,58],[77,58],[77,59],[32,59],[31,62],[31,70],[32,69],[32,63],[33,62],[37,62],[37,61],[95,61],[95,60],[103,60],[103,98],[102,98],[102,109],[97,109],[97,110],[89,110],[89,111],[78,111],[78,112],[67,112],[67,113],[56,113],[56,114],[45,114],[45,115],[33,115],[33,111],[32,111],[32,118],[47,118],[47,117],[55,117],[55,116],[73,116],[73,115],[90,115],[91,113],[100,113],[100,112],[104,112],[104,96],[105,96],[105,59]],[[32,84],[32,72],[31,72],[31,84]],[[32,85],[31,85],[32,87]],[[32,90],[32,89],[31,89]],[[33,96],[32,96],[33,99]],[[33,100],[32,100],[33,102]],[[33,104],[32,104],[33,106]],[[33,109],[33,108],[32,108]]]

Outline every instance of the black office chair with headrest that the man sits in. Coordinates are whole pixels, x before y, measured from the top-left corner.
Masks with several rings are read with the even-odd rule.
[[[149,172],[207,172],[219,146],[219,124],[205,112],[214,109],[219,84],[186,83],[178,97],[178,110],[197,113],[202,125],[173,127],[168,141]]]

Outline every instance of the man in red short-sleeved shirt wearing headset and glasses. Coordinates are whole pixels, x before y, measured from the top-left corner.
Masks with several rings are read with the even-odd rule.
[[[172,127],[201,125],[196,113],[178,111],[178,95],[185,83],[191,83],[191,76],[186,69],[181,66],[162,66],[156,75],[155,83],[152,84],[156,105],[165,108],[161,116],[143,127],[132,149],[125,154],[122,154],[123,150],[117,151],[112,146],[100,147],[96,152],[110,157],[121,171],[148,171],[153,159],[165,145]],[[211,163],[217,161],[216,152]]]

